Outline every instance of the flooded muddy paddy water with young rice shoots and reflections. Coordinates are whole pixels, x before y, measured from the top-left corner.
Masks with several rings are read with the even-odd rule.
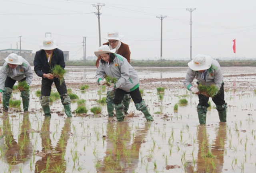
[[[0,172],[255,172],[256,67],[222,67],[227,123],[220,123],[210,99],[206,126],[198,126],[198,98],[183,86],[187,68],[136,68],[154,122],[130,103],[124,122],[108,119],[106,91],[95,84],[95,68],[68,67],[68,88],[86,100],[87,114],[66,118],[59,100],[44,118],[34,76],[28,114],[0,113]],[[85,92],[80,86],[89,85]],[[165,87],[163,97],[156,91]],[[53,91],[56,91],[55,86]],[[19,99],[20,92],[14,91]],[[174,105],[181,98],[188,104]],[[72,110],[77,108],[72,102]],[[90,112],[100,106],[102,114]],[[22,105],[21,105],[22,107]],[[0,106],[2,109],[2,105]]]

